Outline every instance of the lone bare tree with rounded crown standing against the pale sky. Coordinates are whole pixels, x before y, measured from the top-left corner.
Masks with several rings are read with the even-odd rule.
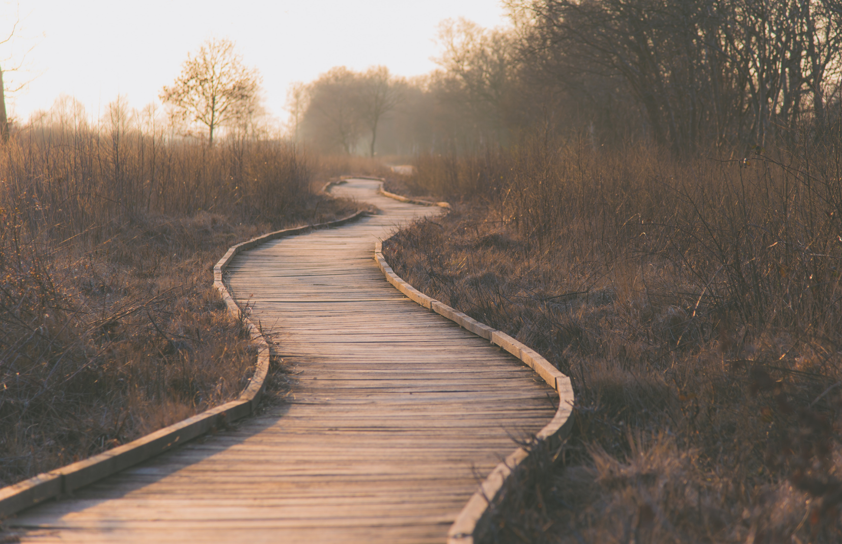
[[[173,104],[183,120],[205,125],[208,145],[216,129],[241,125],[257,109],[260,76],[242,64],[231,40],[211,39],[195,56],[188,54],[172,87],[164,87],[160,99]]]

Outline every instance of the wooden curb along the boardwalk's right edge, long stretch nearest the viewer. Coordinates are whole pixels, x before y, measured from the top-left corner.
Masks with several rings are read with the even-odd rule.
[[[386,259],[383,259],[382,248],[382,242],[377,241],[375,243],[374,259],[383,272],[383,275],[386,276],[386,280],[397,287],[398,291],[401,291],[421,306],[447,317],[450,321],[459,323],[462,328],[505,349],[510,354],[522,360],[532,370],[536,371],[538,376],[541,376],[550,387],[558,392],[558,409],[556,415],[553,416],[549,424],[546,424],[538,432],[536,439],[546,440],[551,437],[563,438],[567,435],[573,421],[571,418],[573,413],[573,386],[570,378],[558,371],[555,366],[541,357],[534,349],[530,349],[506,333],[495,330],[484,323],[468,317],[466,314],[447,306],[443,302],[424,295],[424,293],[409,285],[400,276],[395,274],[392,267],[386,263]],[[477,489],[477,492],[468,500],[465,507],[456,517],[453,525],[450,525],[450,530],[447,531],[448,544],[473,544],[473,533],[477,528],[477,523],[487,512],[488,505],[491,504],[491,501],[497,496],[500,489],[503,488],[503,484],[506,478],[509,477],[509,474],[527,456],[529,456],[529,452],[519,447],[494,468],[485,481],[482,482],[480,488]]]

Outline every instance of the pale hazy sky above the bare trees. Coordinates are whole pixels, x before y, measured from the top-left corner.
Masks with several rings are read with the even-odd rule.
[[[384,64],[413,76],[434,69],[431,56],[442,19],[466,17],[482,26],[505,24],[498,0],[20,0],[2,2],[8,34],[19,9],[19,38],[0,45],[3,68],[27,54],[31,82],[9,97],[10,114],[25,120],[61,94],[75,96],[99,117],[118,93],[141,108],[173,82],[189,51],[214,36],[237,43],[264,78],[265,104],[286,118],[286,89],[331,67]],[[5,35],[3,35],[5,37]]]

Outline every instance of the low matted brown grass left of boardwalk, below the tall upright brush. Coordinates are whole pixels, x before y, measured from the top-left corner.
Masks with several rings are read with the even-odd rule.
[[[248,381],[247,336],[200,262],[221,248],[185,255],[135,228],[121,233],[129,243],[61,251],[9,243],[14,219],[2,248],[3,483],[172,424]],[[195,239],[190,227],[159,232]]]

